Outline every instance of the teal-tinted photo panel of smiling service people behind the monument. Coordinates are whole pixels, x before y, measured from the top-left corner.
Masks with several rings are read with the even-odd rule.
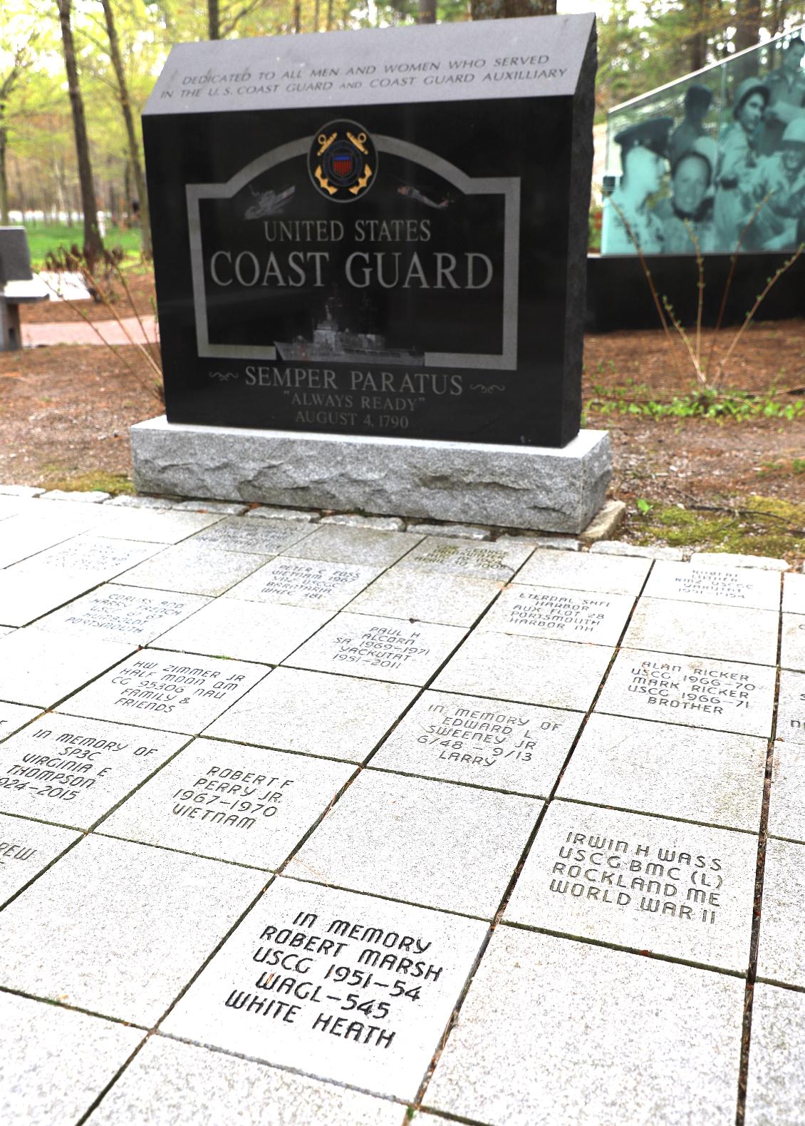
[[[686,89],[681,119],[616,133],[622,175],[604,198],[602,252],[731,253],[739,241],[742,251],[779,251],[805,241],[804,59],[805,41],[792,38],[774,70],[729,89],[720,134],[707,122],[713,91],[699,81]]]

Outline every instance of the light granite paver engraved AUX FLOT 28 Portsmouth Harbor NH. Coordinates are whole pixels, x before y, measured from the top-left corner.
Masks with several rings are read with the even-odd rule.
[[[617,645],[633,605],[631,595],[586,595],[513,583],[485,615],[478,632]]]

